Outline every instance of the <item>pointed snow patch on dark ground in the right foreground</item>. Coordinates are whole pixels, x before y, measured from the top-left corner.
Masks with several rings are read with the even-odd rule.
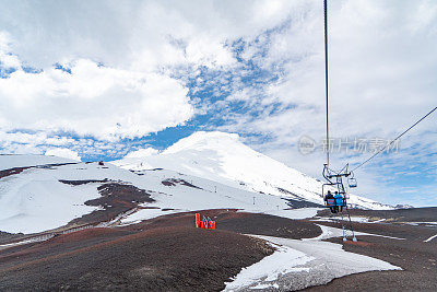
[[[401,270],[400,267],[383,260],[345,252],[340,244],[253,236],[281,245],[282,248],[287,248],[286,250],[290,250],[290,254],[295,256],[295,260],[288,259],[285,253],[274,253],[273,255],[277,257],[276,262],[261,260],[258,262],[259,265],[255,264],[244,269],[233,282],[226,284],[225,291],[246,291],[248,289],[268,289],[271,287],[281,291],[294,291],[310,285],[326,284],[335,278],[352,273]],[[300,265],[297,264],[298,260],[296,259],[298,258],[304,259]],[[296,264],[297,266],[293,267]],[[281,270],[285,271],[287,269],[290,269],[288,272],[281,272]],[[269,278],[268,275],[272,271],[273,277]]]

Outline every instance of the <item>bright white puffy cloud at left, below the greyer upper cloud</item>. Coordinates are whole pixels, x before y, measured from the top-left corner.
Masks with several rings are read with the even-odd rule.
[[[17,70],[0,79],[0,127],[74,131],[99,139],[142,137],[184,124],[193,109],[187,89],[157,73],[140,73],[80,59],[71,73]]]

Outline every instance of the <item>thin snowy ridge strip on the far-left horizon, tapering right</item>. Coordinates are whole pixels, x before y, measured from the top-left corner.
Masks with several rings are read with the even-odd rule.
[[[49,155],[20,155],[20,154],[0,154],[0,171],[14,167],[26,167],[58,163],[75,163],[76,161],[49,156]]]

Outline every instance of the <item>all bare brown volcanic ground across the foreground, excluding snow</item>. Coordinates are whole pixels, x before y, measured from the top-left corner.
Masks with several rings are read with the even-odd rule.
[[[0,252],[0,290],[220,291],[224,282],[273,250],[241,234],[287,238],[315,237],[315,222],[237,210],[203,210],[217,230],[194,227],[194,212],[169,214],[111,229],[58,235],[44,243]],[[425,218],[432,221],[429,218]],[[332,222],[317,224],[339,227]],[[314,291],[437,291],[436,227],[400,223],[353,223],[355,230],[387,236],[358,236],[347,252],[402,267],[335,279]]]

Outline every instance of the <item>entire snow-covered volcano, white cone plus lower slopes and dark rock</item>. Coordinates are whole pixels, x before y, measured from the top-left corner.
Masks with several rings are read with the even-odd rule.
[[[134,157],[139,153],[147,156]],[[223,208],[295,219],[315,215],[323,203],[321,182],[253,151],[237,135],[197,132],[162,153],[139,153],[113,164],[0,155],[0,231],[36,233],[125,213],[121,221],[129,223]],[[349,202],[391,209],[354,195]]]

